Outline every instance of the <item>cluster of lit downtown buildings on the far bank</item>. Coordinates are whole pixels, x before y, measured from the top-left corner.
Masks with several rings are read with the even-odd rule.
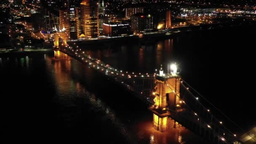
[[[122,0],[119,2],[128,3]],[[133,4],[138,2],[138,0],[133,0]],[[11,9],[11,13],[21,18],[8,19],[8,21],[24,25],[24,29],[32,31],[32,37],[37,39],[45,38],[37,34],[38,32],[44,35],[61,32],[64,33],[66,40],[77,40],[97,38],[100,35],[116,37],[145,34],[171,28],[171,11],[167,11],[166,17],[159,21],[155,13],[145,12],[146,8],[140,5],[127,5],[126,8],[122,5],[124,8],[120,11],[125,15],[118,16],[113,14],[115,8],[111,7],[111,3],[109,1],[104,3],[104,0],[65,0],[60,7],[58,7],[60,2],[56,0],[44,2],[18,0],[13,4],[14,7],[16,5],[22,7],[22,12],[19,12],[19,6],[17,9]],[[30,9],[27,5],[30,5]],[[20,32],[23,36],[29,36],[29,33],[24,31],[15,29],[16,33]],[[12,34],[15,33],[12,32]],[[29,41],[27,43],[30,44]]]

